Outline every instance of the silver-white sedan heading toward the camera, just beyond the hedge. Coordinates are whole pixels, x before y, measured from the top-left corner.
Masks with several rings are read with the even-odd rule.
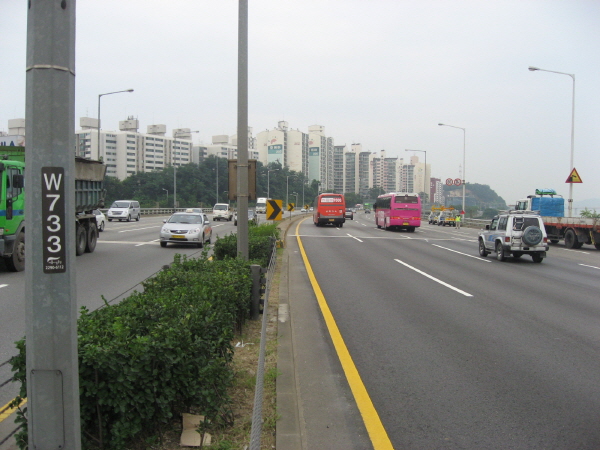
[[[160,229],[161,247],[166,247],[171,242],[202,248],[205,242],[210,244],[211,240],[212,227],[206,214],[175,213],[164,221]]]

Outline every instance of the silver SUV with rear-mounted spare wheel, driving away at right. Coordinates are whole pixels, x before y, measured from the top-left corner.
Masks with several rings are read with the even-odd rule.
[[[533,262],[540,263],[548,251],[548,236],[539,214],[533,211],[508,211],[492,219],[479,233],[479,254],[487,256],[496,252],[496,259],[504,261],[507,256],[520,258],[531,255]]]

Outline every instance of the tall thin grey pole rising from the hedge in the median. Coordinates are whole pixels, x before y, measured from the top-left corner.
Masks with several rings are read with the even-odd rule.
[[[238,255],[248,251],[248,0],[239,0],[238,18]]]

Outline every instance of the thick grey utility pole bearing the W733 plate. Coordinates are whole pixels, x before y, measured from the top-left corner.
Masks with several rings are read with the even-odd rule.
[[[29,448],[80,449],[75,0],[28,2],[25,117]],[[46,264],[48,255],[54,264]]]

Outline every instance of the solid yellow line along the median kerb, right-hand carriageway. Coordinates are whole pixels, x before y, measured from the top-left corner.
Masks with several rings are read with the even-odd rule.
[[[304,260],[304,266],[306,267],[308,278],[310,279],[313,291],[315,292],[317,301],[319,302],[321,313],[323,314],[323,318],[325,319],[327,329],[329,330],[329,335],[331,336],[333,345],[335,346],[338,357],[340,358],[342,368],[344,369],[344,373],[346,374],[346,379],[348,380],[348,384],[350,385],[350,389],[352,390],[352,394],[354,395],[354,399],[363,418],[363,422],[365,423],[367,432],[369,433],[369,437],[371,438],[373,448],[375,450],[393,449],[394,447],[392,446],[392,442],[390,441],[390,438],[388,437],[387,432],[385,431],[385,428],[381,423],[379,414],[377,413],[377,410],[375,409],[375,406],[371,401],[371,397],[369,397],[369,393],[367,392],[367,389],[365,388],[365,385],[362,382],[360,374],[358,373],[358,369],[354,365],[352,356],[350,356],[350,352],[346,347],[344,339],[342,338],[342,334],[340,333],[335,319],[333,318],[333,314],[329,309],[327,300],[325,300],[325,296],[321,291],[321,287],[317,282],[310,262],[308,261],[308,257],[306,256],[306,252],[304,251],[302,239],[300,238],[300,235],[298,233],[300,224],[304,222],[304,220],[301,220],[296,226],[296,239],[298,240],[298,247],[300,248],[300,253],[302,254],[302,259]]]

